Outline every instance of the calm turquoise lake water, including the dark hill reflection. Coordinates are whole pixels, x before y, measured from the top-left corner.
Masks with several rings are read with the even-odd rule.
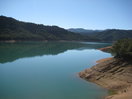
[[[110,57],[107,43],[0,44],[0,99],[101,99],[105,89],[78,72]]]

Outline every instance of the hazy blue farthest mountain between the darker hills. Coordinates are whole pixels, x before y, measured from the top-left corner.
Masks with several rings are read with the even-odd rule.
[[[87,30],[87,29],[83,29],[83,28],[70,28],[70,29],[68,29],[68,31],[82,34],[82,35],[89,35],[92,33],[101,32],[103,30]]]

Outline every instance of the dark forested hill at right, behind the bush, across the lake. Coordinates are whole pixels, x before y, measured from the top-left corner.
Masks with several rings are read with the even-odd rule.
[[[132,38],[132,30],[108,29],[102,32],[94,33],[91,37],[101,39],[101,41],[117,41],[123,38]]]

